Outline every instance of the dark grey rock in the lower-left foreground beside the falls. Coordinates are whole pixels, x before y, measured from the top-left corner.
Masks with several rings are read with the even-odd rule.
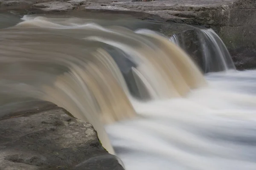
[[[35,107],[36,108],[36,107]],[[123,170],[89,123],[56,105],[0,119],[0,170]]]

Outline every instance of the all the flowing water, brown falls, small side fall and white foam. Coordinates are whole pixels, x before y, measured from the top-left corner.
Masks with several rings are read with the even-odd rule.
[[[126,170],[256,169],[255,71],[203,76],[175,37],[146,29],[23,20],[0,30],[1,108],[53,102],[92,123]],[[202,32],[229,57],[215,33]]]

